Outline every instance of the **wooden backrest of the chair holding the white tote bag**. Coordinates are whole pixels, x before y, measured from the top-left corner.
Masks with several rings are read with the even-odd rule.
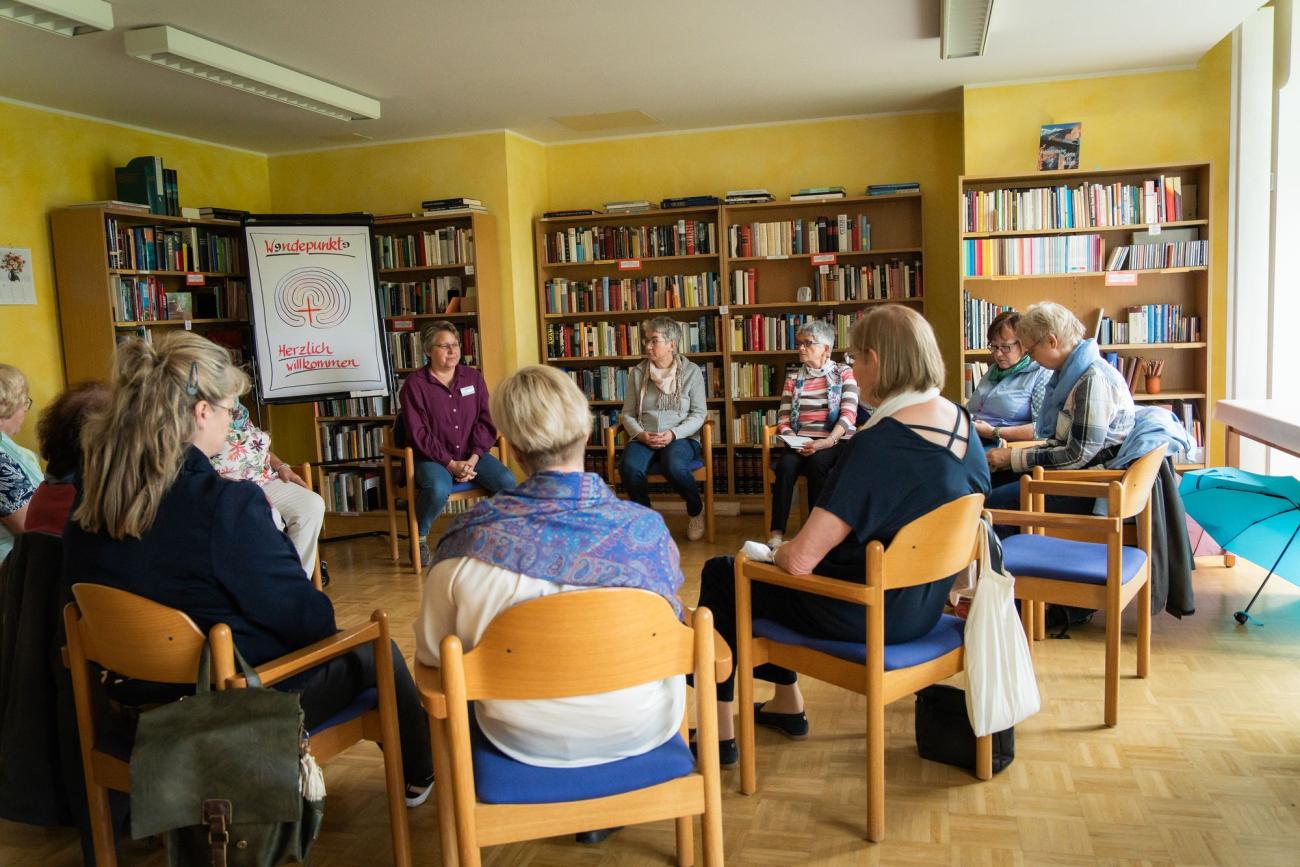
[[[958,497],[905,525],[889,547],[871,542],[867,584],[885,590],[910,588],[963,569],[975,551],[983,508],[983,494]]]

